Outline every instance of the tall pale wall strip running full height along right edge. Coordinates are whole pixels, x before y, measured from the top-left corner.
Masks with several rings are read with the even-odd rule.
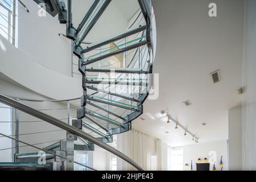
[[[245,45],[243,52],[242,169],[256,169],[256,1],[245,4]]]

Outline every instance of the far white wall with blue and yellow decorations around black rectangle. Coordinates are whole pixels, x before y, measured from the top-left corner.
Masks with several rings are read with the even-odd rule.
[[[193,170],[196,170],[197,159],[198,158],[209,159],[210,151],[216,152],[216,160],[217,160],[215,165],[216,169],[220,170],[220,167],[218,167],[218,163],[220,163],[221,156],[223,156],[222,158],[222,162],[224,163],[223,170],[227,170],[228,169],[228,163],[227,163],[228,145],[226,140],[184,146],[183,147],[183,166],[185,166],[185,164],[189,164],[189,168],[184,167],[184,170],[190,170],[191,160],[193,163]],[[213,168],[213,165],[210,165],[210,170],[212,170],[212,168]]]

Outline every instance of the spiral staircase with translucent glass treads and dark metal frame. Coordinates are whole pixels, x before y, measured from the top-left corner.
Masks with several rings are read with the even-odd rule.
[[[108,150],[109,148],[102,143],[111,143],[113,135],[131,130],[132,121],[143,113],[143,102],[148,97],[152,85],[152,5],[150,0],[138,0],[141,10],[127,31],[113,38],[88,44],[84,43],[84,40],[108,9],[110,0],[95,0],[77,28],[73,27],[72,23],[71,0],[67,0],[67,4],[63,0],[34,1],[38,4],[46,3],[46,11],[53,17],[58,15],[60,23],[66,24],[65,36],[72,41],[73,54],[78,59],[77,66],[84,91],[77,109],[77,117],[72,120],[71,130],[62,123],[59,125],[50,122],[67,130],[67,139],[42,149],[47,152],[46,164],[42,166],[37,163],[38,154],[16,153],[14,163],[1,164],[0,168],[72,170],[74,150],[93,151],[94,144]],[[0,98],[0,101],[3,102],[3,98]],[[13,107],[18,105],[15,101],[5,100],[3,103]],[[18,105],[18,109],[19,107],[24,106]],[[28,114],[34,115],[33,112]],[[84,137],[84,133],[90,133],[93,139],[88,135]],[[99,142],[96,143],[94,139]],[[83,144],[75,144],[76,140]],[[109,151],[117,156],[122,155],[114,149]],[[122,156],[121,158],[124,159]],[[54,163],[51,163],[52,160]],[[129,162],[130,159],[126,161]]]

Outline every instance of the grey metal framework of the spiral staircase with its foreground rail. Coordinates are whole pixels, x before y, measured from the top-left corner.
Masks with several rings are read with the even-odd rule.
[[[123,52],[130,51],[132,49],[136,49],[142,46],[147,46],[148,53],[152,53],[153,49],[153,43],[152,43],[152,16],[151,16],[151,1],[150,0],[138,0],[139,6],[141,7],[141,13],[144,16],[144,19],[146,20],[146,24],[143,24],[137,28],[133,28],[127,30],[123,34],[117,35],[114,38],[103,40],[100,43],[94,43],[88,45],[86,48],[82,48],[81,43],[84,41],[90,30],[92,30],[93,26],[97,23],[97,20],[100,18],[100,16],[104,13],[108,5],[110,4],[111,0],[94,0],[93,5],[88,10],[88,13],[84,16],[82,19],[82,22],[79,24],[79,27],[75,28],[72,24],[72,0],[67,0],[67,8],[65,5],[64,0],[34,0],[36,3],[45,3],[46,4],[46,11],[51,14],[52,16],[56,16],[58,14],[60,23],[66,24],[66,37],[72,40],[73,45],[73,53],[79,57],[79,71],[82,75],[82,88],[84,90],[84,94],[81,97],[81,105],[80,108],[77,109],[77,119],[72,120],[72,126],[69,125],[69,123],[64,123],[60,121],[59,119],[53,118],[50,115],[41,113],[38,110],[32,109],[31,107],[28,107],[27,105],[21,104],[18,101],[12,100],[9,97],[3,96],[0,94],[0,102],[3,104],[9,105],[11,107],[14,107],[20,111],[24,111],[24,113],[30,114],[34,117],[37,117],[39,119],[42,119],[43,121],[46,121],[48,123],[51,123],[52,125],[55,125],[57,127],[60,127],[61,129],[64,129],[67,131],[67,141],[60,141],[52,144],[51,146],[48,146],[46,148],[42,148],[42,151],[46,151],[47,154],[49,154],[49,158],[52,156],[59,157],[62,161],[63,159],[67,160],[67,169],[72,170],[73,169],[73,163],[77,163],[73,161],[73,153],[74,150],[94,150],[94,144],[97,146],[100,146],[104,148],[105,150],[112,152],[114,155],[117,155],[119,158],[125,160],[126,162],[133,165],[135,168],[139,170],[143,170],[142,167],[140,167],[137,163],[135,163],[133,160],[128,158],[126,155],[122,154],[122,152],[115,150],[115,148],[110,147],[108,144],[109,142],[112,142],[114,134],[123,133],[126,131],[131,130],[131,122],[138,118],[139,115],[143,113],[143,102],[146,100],[148,96],[147,93],[140,93],[138,94],[138,98],[135,97],[128,97],[123,96],[121,94],[117,94],[111,91],[106,91],[102,89],[97,89],[94,86],[88,86],[87,84],[114,84],[114,85],[138,85],[138,86],[151,86],[151,79],[150,82],[142,82],[142,79],[131,80],[128,79],[115,79],[113,81],[111,80],[94,80],[94,78],[88,78],[86,76],[86,72],[98,72],[98,73],[112,73],[113,71],[115,73],[124,73],[124,74],[138,74],[138,75],[148,75],[152,74],[152,64],[150,63],[150,60],[146,63],[148,64],[148,67],[146,69],[129,69],[129,68],[123,68],[123,69],[102,69],[102,68],[93,68],[89,67],[90,64],[96,63],[97,61],[100,61],[102,59],[106,59],[108,57],[112,57],[114,55],[118,55]],[[139,13],[139,15],[141,15]],[[132,25],[131,25],[132,26]],[[104,55],[97,56],[93,59],[87,59],[85,58],[84,54],[88,53],[90,51],[93,51],[94,49],[100,48],[102,46],[105,46],[107,44],[113,43],[117,40],[127,38],[128,36],[135,35],[139,32],[142,32],[142,37],[137,38],[134,41],[138,40],[137,43],[133,43],[130,46],[125,46],[125,44],[121,44],[119,46],[116,46],[118,48],[117,50],[113,52],[106,53]],[[144,36],[144,32],[146,32],[146,36]],[[146,38],[145,40],[143,40]],[[123,46],[123,48],[119,48]],[[110,49],[111,50],[111,49]],[[138,51],[138,49],[137,49]],[[136,51],[136,52],[137,52]],[[105,51],[107,52],[107,51]],[[145,65],[146,65],[145,63]],[[129,63],[130,65],[131,63]],[[112,100],[106,100],[105,98],[98,98],[97,96],[88,95],[87,89],[94,90],[97,93],[104,93],[109,94],[111,96],[119,97],[121,99],[130,101],[130,105],[122,104],[121,102],[116,102]],[[136,102],[137,105],[132,105],[133,102]],[[105,109],[104,107],[97,105],[98,104],[105,104],[108,106],[114,106],[118,108],[122,108],[125,110],[130,110],[131,113],[127,114],[125,117],[122,117],[121,115],[115,114],[113,111],[110,111],[108,109]],[[117,117],[122,120],[122,123],[116,122],[114,119],[106,118],[104,115],[101,115],[100,113],[96,113],[94,111],[85,109],[86,105],[90,105],[92,107],[96,107],[98,110],[105,111],[109,115],[112,115],[114,117]],[[84,122],[82,119],[87,119],[88,121],[94,123],[98,127],[100,127],[102,130],[104,130],[107,134],[101,133],[97,129],[94,129],[94,127],[88,125],[86,122]],[[113,126],[117,126],[115,128],[107,129],[106,127],[102,126],[98,121],[96,121],[94,118],[100,119],[100,121],[107,122],[108,124],[111,124]],[[93,131],[93,133],[99,135],[99,138],[94,138],[92,135],[89,135],[82,131],[82,128],[88,129],[90,131]],[[3,135],[3,134],[1,134]],[[4,135],[3,135],[4,136]],[[5,136],[6,137],[6,136]],[[12,139],[12,138],[11,138]],[[74,140],[80,139],[82,142],[85,143],[85,145],[76,145],[74,144]],[[16,142],[22,142],[18,139],[14,139]],[[88,141],[88,143],[85,142]],[[27,143],[26,143],[27,144]],[[28,144],[30,145],[30,144]],[[61,149],[65,146],[65,149]],[[38,148],[38,147],[35,147]],[[55,150],[58,148],[60,151],[52,152],[51,150]],[[40,148],[38,148],[40,149]],[[65,151],[65,156],[62,155],[62,151]],[[16,154],[16,159],[21,159],[26,156],[33,156],[36,157],[34,154]],[[83,166],[83,165],[82,165]],[[90,168],[90,167],[88,167]],[[90,168],[92,169],[92,168]]]

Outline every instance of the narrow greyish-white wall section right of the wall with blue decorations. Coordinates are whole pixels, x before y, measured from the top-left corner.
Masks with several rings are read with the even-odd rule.
[[[242,107],[229,109],[229,170],[242,169]]]

